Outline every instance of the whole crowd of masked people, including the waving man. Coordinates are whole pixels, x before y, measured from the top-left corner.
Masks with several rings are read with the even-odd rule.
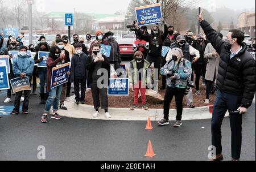
[[[170,103],[175,97],[176,122],[174,127],[182,125],[183,97],[186,96],[187,107],[195,108],[193,104],[192,88],[195,87],[195,94],[199,96],[200,79],[205,85],[205,104],[210,102],[210,93],[216,92],[217,97],[213,109],[212,119],[212,140],[217,148],[217,156],[214,160],[221,160],[221,123],[227,110],[246,113],[251,106],[255,93],[255,41],[251,49],[246,49],[243,42],[244,33],[238,29],[230,30],[226,40],[223,40],[221,33],[217,33],[199,15],[201,27],[205,35],[194,35],[191,31],[181,35],[175,33],[175,27],[168,26],[162,19],[163,31],[159,25],[151,28],[148,33],[146,26],[139,27],[135,24],[134,59],[130,62],[129,81],[134,91],[134,102],[131,110],[138,108],[138,96],[141,93],[142,109],[147,110],[146,89],[152,84],[150,67],[154,63],[154,82],[158,83],[159,76],[162,76],[162,87],[166,89],[163,102],[164,118],[158,123],[165,126],[169,123]],[[9,55],[9,51],[18,50],[18,58],[13,62],[13,55],[9,55],[10,74],[9,79],[27,76],[32,81],[32,92],[23,91],[16,93],[14,109],[11,114],[19,113],[20,100],[23,101],[22,113],[28,114],[30,94],[36,94],[36,78],[40,79],[40,104],[45,104],[44,114],[41,122],[48,122],[48,116],[52,119],[61,119],[57,110],[67,110],[65,101],[70,101],[71,83],[75,89],[75,103],[85,104],[86,87],[91,88],[95,113],[93,117],[100,115],[99,108],[105,110],[106,118],[111,118],[108,111],[108,79],[110,78],[110,65],[115,70],[120,68],[121,57],[117,41],[113,32],[96,32],[96,40],[86,35],[86,41],[79,35],[73,35],[73,44],[70,44],[69,37],[56,35],[53,45],[48,45],[44,36],[40,37],[38,45],[29,45],[28,48],[22,45],[22,39],[10,37],[7,47],[0,42],[0,53]],[[101,45],[111,46],[110,56],[101,54]],[[170,48],[166,55],[162,54],[163,47]],[[27,51],[36,52],[34,60],[27,54]],[[43,61],[38,57],[38,51],[49,52],[47,67],[37,67]],[[51,88],[52,68],[58,65],[71,62],[69,81],[63,85]],[[98,79],[104,76],[107,71],[108,79],[102,81],[104,87],[98,87]],[[117,73],[117,77],[122,76]],[[193,82],[195,80],[195,83]],[[80,93],[81,90],[81,93]],[[11,88],[7,91],[5,103],[11,102]],[[53,107],[53,113],[50,109]],[[230,115],[232,128],[232,157],[234,160],[240,158],[241,152],[241,115]]]

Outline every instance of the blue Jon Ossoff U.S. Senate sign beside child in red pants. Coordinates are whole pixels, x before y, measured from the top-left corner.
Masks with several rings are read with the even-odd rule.
[[[109,96],[129,96],[129,79],[109,79]]]

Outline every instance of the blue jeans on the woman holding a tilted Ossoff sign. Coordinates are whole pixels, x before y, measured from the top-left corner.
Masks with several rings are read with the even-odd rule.
[[[51,91],[49,92],[49,97],[46,101],[46,108],[44,109],[44,113],[49,114],[51,106],[53,106],[53,111],[57,111],[59,109],[60,94],[62,88],[63,85],[59,85],[58,87],[51,89]]]

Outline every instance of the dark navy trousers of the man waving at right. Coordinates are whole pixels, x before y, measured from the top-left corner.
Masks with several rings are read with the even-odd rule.
[[[229,94],[217,89],[217,98],[212,115],[212,145],[216,147],[216,154],[222,153],[221,125],[226,112],[236,111],[242,102],[242,96]],[[239,159],[242,145],[242,115],[230,115],[230,127],[232,132],[232,158]]]

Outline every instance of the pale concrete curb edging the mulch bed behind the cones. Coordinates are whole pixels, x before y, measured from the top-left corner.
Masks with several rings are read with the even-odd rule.
[[[70,97],[70,102],[65,102],[68,110],[59,110],[61,116],[68,118],[78,119],[97,119],[106,121],[147,121],[150,117],[151,121],[159,121],[163,118],[163,109],[135,109],[130,110],[127,108],[109,108],[109,113],[112,115],[111,119],[105,118],[104,110],[100,109],[100,116],[93,118],[95,112],[93,106],[90,105],[76,105],[75,96]],[[183,109],[183,121],[192,121],[200,119],[212,119],[212,106],[204,106],[195,109]],[[226,113],[225,117],[228,117]],[[176,120],[176,109],[170,109],[170,121]]]

